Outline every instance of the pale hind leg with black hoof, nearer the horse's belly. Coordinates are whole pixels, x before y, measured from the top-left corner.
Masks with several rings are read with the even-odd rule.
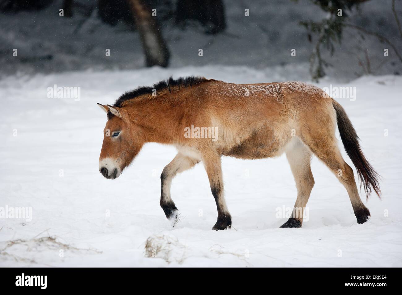
[[[297,187],[297,199],[292,215],[281,228],[300,228],[303,223],[303,214],[314,186],[314,178],[310,168],[311,151],[298,138],[286,150],[286,157],[290,164]]]

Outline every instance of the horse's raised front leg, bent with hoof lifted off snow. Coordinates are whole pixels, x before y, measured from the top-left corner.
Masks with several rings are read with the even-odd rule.
[[[170,197],[170,185],[172,184],[172,180],[177,173],[194,167],[194,165],[198,162],[199,161],[196,159],[192,159],[178,153],[176,157],[174,157],[174,159],[168,165],[166,165],[162,171],[162,174],[160,175],[160,181],[162,183],[160,207],[162,207],[166,218],[172,223],[172,226],[176,224],[178,217],[178,210],[176,205],[174,205],[172,198]]]

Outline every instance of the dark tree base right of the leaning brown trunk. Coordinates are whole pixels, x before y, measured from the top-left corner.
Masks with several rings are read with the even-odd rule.
[[[185,25],[187,20],[198,20],[207,34],[217,34],[226,28],[222,0],[178,0],[176,23]]]

